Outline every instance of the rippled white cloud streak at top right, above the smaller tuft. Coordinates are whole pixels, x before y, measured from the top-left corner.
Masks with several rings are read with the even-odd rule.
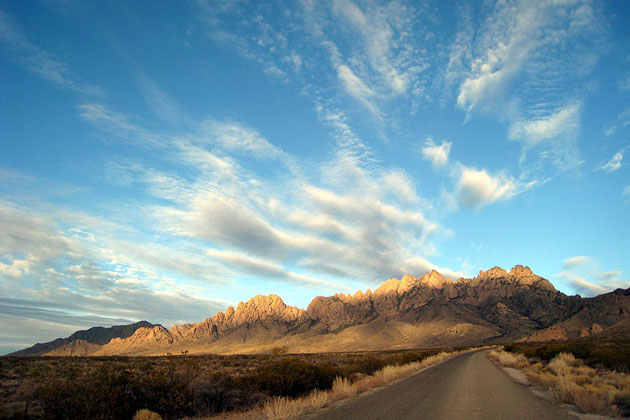
[[[588,0],[572,4],[498,2],[480,33],[475,34],[470,68],[462,75],[458,106],[467,111],[504,114],[512,95],[529,100],[522,96],[527,94],[542,95],[533,98],[534,104],[549,103],[549,95],[557,88],[543,87],[535,76],[549,73],[561,82],[592,67],[591,57],[598,52],[589,50],[588,45],[596,42],[599,25],[599,17]],[[464,25],[462,31],[470,32],[471,28]],[[466,51],[470,36],[457,39],[458,47],[452,48],[451,55],[453,60],[461,61],[458,57]],[[581,55],[578,50],[567,48],[572,39],[583,41],[574,47],[580,48]],[[519,91],[524,85],[537,92]]]

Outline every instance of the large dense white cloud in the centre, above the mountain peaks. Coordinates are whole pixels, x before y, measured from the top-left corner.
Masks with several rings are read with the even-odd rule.
[[[430,237],[440,227],[425,218],[414,183],[403,171],[372,167],[369,153],[354,152],[363,146],[343,118],[321,112],[339,130],[340,141],[334,159],[317,173],[310,171],[309,179],[296,172],[268,179],[243,170],[231,158],[226,170],[230,176],[220,183],[208,182],[204,172],[187,183],[168,174],[146,177],[150,191],[172,202],[152,209],[158,229],[224,250],[211,253],[213,261],[224,264],[235,278],[238,267],[250,275],[258,267],[261,276],[273,272],[279,280],[296,284],[323,285],[331,276],[371,284],[392,273],[437,268],[426,256],[435,252]],[[188,165],[204,167],[207,159],[193,158],[203,153],[188,150],[191,145],[182,141],[176,146],[190,156]],[[298,271],[303,277],[296,276]]]

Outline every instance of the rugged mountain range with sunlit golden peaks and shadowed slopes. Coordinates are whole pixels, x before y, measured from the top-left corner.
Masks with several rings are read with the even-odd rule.
[[[566,340],[630,318],[630,288],[567,296],[529,267],[494,267],[456,281],[436,271],[377,289],[316,297],[307,309],[258,295],[236,309],[170,329],[146,321],[78,331],[13,353],[101,356],[390,350]]]

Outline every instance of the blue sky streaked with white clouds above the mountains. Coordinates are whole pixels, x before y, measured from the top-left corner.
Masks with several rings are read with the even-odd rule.
[[[630,286],[630,3],[0,4],[0,354],[528,265]]]

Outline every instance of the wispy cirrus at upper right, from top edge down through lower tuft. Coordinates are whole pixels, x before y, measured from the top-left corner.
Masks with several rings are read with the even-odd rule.
[[[510,139],[523,142],[521,161],[536,149],[560,170],[575,168],[581,99],[568,86],[583,83],[597,62],[603,27],[588,0],[498,2],[481,28],[462,27],[451,48],[449,80],[457,71],[461,80],[457,105],[468,117],[507,122]]]

